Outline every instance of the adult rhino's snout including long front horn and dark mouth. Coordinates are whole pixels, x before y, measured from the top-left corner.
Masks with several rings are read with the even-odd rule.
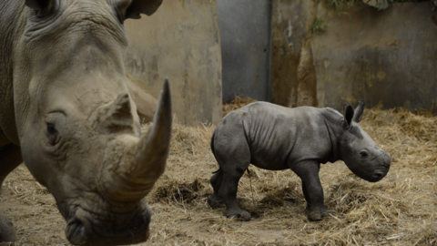
[[[166,79],[146,136],[109,138],[96,192],[62,202],[69,205],[64,212],[68,241],[125,245],[147,240],[151,211],[144,197],[166,169],[173,121],[170,96]]]

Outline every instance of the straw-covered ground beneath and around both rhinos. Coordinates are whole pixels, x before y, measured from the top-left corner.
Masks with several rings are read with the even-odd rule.
[[[246,222],[206,202],[218,169],[209,150],[214,126],[175,124],[168,168],[146,198],[150,238],[140,245],[437,245],[437,117],[371,109],[361,127],[391,154],[386,178],[370,183],[341,161],[322,165],[325,203],[335,215],[310,222],[292,171],[250,167],[239,183],[240,206],[252,216]],[[7,177],[0,200],[19,244],[69,245],[55,200],[24,165]]]

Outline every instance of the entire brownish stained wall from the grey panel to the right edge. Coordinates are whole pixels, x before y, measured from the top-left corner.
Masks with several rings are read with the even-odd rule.
[[[396,4],[383,11],[356,5],[346,12],[339,15],[313,1],[273,1],[271,100],[287,106],[297,101],[299,50],[310,38],[320,107],[340,109],[344,102],[364,99],[369,107],[381,102],[385,108],[432,108],[437,11],[430,3]],[[312,35],[316,15],[328,27]]]

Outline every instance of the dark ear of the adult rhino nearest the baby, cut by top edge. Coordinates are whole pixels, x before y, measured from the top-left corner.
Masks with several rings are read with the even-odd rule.
[[[162,4],[162,0],[118,0],[118,8],[124,19],[139,19],[140,14],[153,15]]]

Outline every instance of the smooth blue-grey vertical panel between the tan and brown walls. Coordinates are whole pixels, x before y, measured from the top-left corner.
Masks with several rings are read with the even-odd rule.
[[[223,99],[269,100],[270,0],[219,0]]]

